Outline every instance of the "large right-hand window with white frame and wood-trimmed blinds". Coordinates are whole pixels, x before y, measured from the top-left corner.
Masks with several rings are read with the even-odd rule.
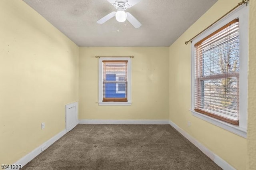
[[[248,8],[192,42],[192,114],[246,137]]]

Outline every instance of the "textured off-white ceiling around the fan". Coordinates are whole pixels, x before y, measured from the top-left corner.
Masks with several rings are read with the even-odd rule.
[[[216,1],[141,0],[126,10],[142,24],[136,29],[115,18],[97,24],[116,11],[107,0],[24,0],[78,46],[108,47],[170,46]]]

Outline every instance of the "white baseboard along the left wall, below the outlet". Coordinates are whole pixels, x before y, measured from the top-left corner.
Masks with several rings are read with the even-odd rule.
[[[49,140],[47,140],[46,142],[44,142],[43,144],[41,144],[40,146],[38,146],[37,148],[32,150],[32,152],[30,152],[29,154],[27,154],[26,156],[24,156],[23,158],[21,158],[20,160],[15,162],[14,164],[21,165],[23,167],[30,160],[34,159],[36,156],[38,156],[43,151],[43,150],[41,150],[42,147],[45,150],[46,148],[51,146],[54,142],[56,142],[56,140],[61,138],[64,134],[66,134],[66,129],[62,130],[61,132],[59,132],[58,134],[56,134],[55,136],[53,136],[52,138],[50,138]]]

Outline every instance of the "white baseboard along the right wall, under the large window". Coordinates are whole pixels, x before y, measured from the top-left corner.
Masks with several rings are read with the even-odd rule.
[[[198,140],[190,136],[187,132],[182,130],[178,125],[173,123],[172,121],[169,121],[170,125],[174,127],[178,132],[180,132],[185,138],[187,138],[192,144],[194,144],[196,147],[198,147],[206,156],[208,156],[213,162],[215,162],[218,166],[220,166],[224,170],[236,170],[233,166],[228,164],[225,160],[220,158],[218,155],[214,154],[211,150],[206,148],[204,145],[202,145]]]

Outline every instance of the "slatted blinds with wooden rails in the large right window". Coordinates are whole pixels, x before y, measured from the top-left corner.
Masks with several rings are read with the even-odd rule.
[[[239,22],[195,44],[195,111],[239,125]]]

